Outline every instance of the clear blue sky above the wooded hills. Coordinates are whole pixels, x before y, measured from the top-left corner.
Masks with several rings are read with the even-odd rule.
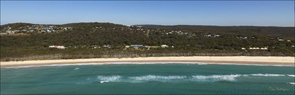
[[[1,1],[1,25],[67,24],[294,26],[294,1]]]

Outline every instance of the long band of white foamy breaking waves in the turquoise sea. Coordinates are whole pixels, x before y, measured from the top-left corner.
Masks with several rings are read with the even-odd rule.
[[[238,78],[242,77],[279,77],[289,76],[283,74],[228,74],[228,75],[194,75],[194,76],[96,76],[94,78],[87,78],[88,83],[113,83],[113,82],[126,82],[126,83],[144,83],[144,82],[185,82],[185,81],[198,81],[198,82],[219,82],[228,81],[235,82]]]

